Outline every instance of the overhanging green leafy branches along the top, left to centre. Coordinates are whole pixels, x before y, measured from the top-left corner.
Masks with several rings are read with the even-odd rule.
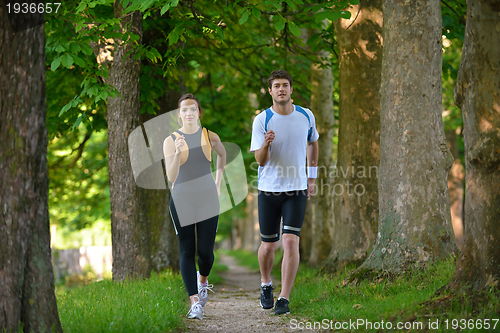
[[[357,4],[359,1],[353,0],[351,3]],[[122,5],[125,8],[122,12],[123,16],[139,10],[144,13],[144,19],[155,18],[156,25],[163,25],[166,28],[162,30],[164,31],[163,43],[160,41],[160,45],[152,45],[156,43],[155,41],[150,45],[139,45],[137,43],[139,36],[134,35],[126,28],[121,29],[123,22],[121,18],[114,17],[113,1],[111,0],[67,2],[62,4],[57,14],[47,16],[45,25],[46,51],[51,71],[57,71],[64,67],[72,70],[78,69],[79,74],[82,75],[80,78],[82,89],[73,95],[73,99],[62,106],[60,114],[78,109],[82,104],[90,104],[91,108],[95,108],[93,104],[100,103],[108,96],[114,97],[118,93],[116,89],[105,83],[107,66],[99,65],[94,54],[99,52],[99,48],[102,50],[106,45],[111,45],[110,50],[112,51],[113,44],[132,43],[136,48],[136,58],[144,58],[149,60],[151,64],[159,65],[163,70],[163,76],[170,76],[175,80],[179,78],[179,73],[176,73],[177,69],[175,68],[179,58],[191,60],[189,57],[191,52],[187,50],[189,46],[192,45],[194,48],[202,46],[197,44],[199,42],[203,44],[203,40],[218,42],[221,44],[220,46],[226,46],[222,44],[231,38],[225,36],[224,30],[233,36],[241,36],[241,32],[245,32],[243,35],[246,37],[248,35],[258,37],[265,40],[268,46],[272,45],[286,52],[296,52],[299,48],[294,47],[293,44],[298,46],[303,44],[298,38],[301,35],[301,28],[318,28],[321,27],[321,21],[325,19],[333,21],[340,17],[350,17],[350,13],[344,11],[349,5],[349,1],[338,0],[313,4],[305,4],[301,0],[287,0],[285,2],[267,0],[257,4],[232,2],[226,6],[210,1],[194,4],[179,3],[178,0],[124,0]],[[265,13],[266,16],[263,16],[262,13]],[[316,19],[314,19],[315,13],[317,13]],[[164,15],[168,19],[168,23],[166,23],[167,20],[159,22],[158,17]],[[270,19],[270,17],[272,18]],[[252,29],[239,27],[242,24],[248,25],[250,23],[253,25]],[[165,27],[165,24],[168,27]],[[274,33],[266,29],[270,26],[276,29]],[[280,33],[280,36],[276,36],[276,33]],[[273,39],[274,42],[269,43],[269,40]],[[280,39],[284,39],[284,43],[281,45],[279,44]],[[167,40],[168,44],[165,44]],[[239,45],[243,48],[250,48],[250,50],[256,46],[253,42],[254,38],[239,39]],[[186,45],[189,46],[186,47]],[[221,49],[213,43],[203,46],[208,46],[209,50]],[[163,47],[163,52],[159,51],[160,47]],[[305,54],[304,52],[299,53],[302,53],[302,56]],[[204,58],[208,60],[206,55]],[[261,63],[262,60],[259,64]],[[182,70],[182,72],[186,71],[189,72],[190,69],[184,68]],[[150,108],[147,108],[148,113],[151,111]],[[74,119],[73,128],[78,127],[82,121],[90,122],[85,113]]]

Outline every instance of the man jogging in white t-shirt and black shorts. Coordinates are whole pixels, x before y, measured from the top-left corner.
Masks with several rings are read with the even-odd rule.
[[[275,314],[289,313],[290,292],[299,267],[299,237],[307,198],[314,193],[318,163],[318,132],[309,109],[292,104],[292,77],[284,70],[271,73],[268,90],[273,106],[253,122],[250,151],[259,164],[258,207],[261,245],[260,304]],[[306,176],[307,156],[307,176]],[[271,270],[283,218],[281,293],[274,304]]]

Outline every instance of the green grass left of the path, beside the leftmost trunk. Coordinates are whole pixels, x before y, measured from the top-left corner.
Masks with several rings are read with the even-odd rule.
[[[56,291],[65,332],[169,332],[183,327],[187,294],[178,274],[143,281],[103,280]]]

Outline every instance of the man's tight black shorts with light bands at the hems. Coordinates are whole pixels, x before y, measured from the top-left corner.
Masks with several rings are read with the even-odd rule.
[[[280,224],[283,217],[284,234],[300,236],[306,214],[307,190],[289,192],[259,191],[259,225],[263,242],[280,239]]]

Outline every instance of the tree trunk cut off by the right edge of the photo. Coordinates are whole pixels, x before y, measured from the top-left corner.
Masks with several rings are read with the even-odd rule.
[[[500,280],[500,4],[468,1],[455,101],[465,145],[464,248],[451,286],[472,290]]]

